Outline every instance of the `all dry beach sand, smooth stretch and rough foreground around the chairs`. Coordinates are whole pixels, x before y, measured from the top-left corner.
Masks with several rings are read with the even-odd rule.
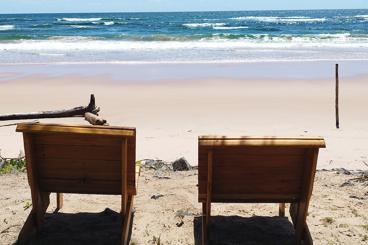
[[[96,105],[101,108],[100,116],[107,119],[110,125],[137,128],[137,161],[158,158],[171,162],[184,157],[195,166],[199,135],[305,135],[325,138],[326,148],[320,150],[318,169],[368,169],[368,75],[340,77],[340,128],[336,129],[334,78],[178,76],[173,79],[148,81],[123,77],[117,79],[110,73],[86,76],[83,72],[78,72],[77,68],[75,73],[60,76],[57,73],[52,76],[37,73],[37,69],[33,73],[22,75],[13,71],[1,73],[0,78],[4,79],[0,80],[0,113],[49,111],[87,105],[90,94],[94,94]],[[17,122],[20,121],[6,121],[2,124]],[[39,122],[88,124],[84,118],[39,119]],[[3,157],[16,157],[23,147],[22,134],[16,133],[15,127],[0,127],[0,149]],[[164,181],[152,178],[152,174],[149,170],[142,171],[138,195],[134,202],[131,242],[153,244],[153,236],[161,234],[163,244],[198,244],[201,205],[197,201],[196,175],[184,177],[187,173],[183,173]],[[318,172],[316,176],[318,178],[315,180],[314,195],[309,206],[309,211],[316,215],[313,218],[308,216],[307,220],[315,244],[339,244],[343,238],[345,243],[341,244],[365,244],[361,240],[367,230],[354,225],[366,224],[367,221],[362,217],[368,217],[367,201],[348,198],[348,195],[355,193],[362,196],[367,187],[364,191],[358,187],[349,187],[351,190],[339,187],[340,182],[347,177],[337,175],[336,171]],[[23,224],[22,220],[28,215],[29,211],[24,211],[22,206],[24,201],[30,200],[30,193],[25,174],[2,175],[0,181],[1,185],[10,185],[0,192],[1,218],[6,219],[0,230],[15,225],[11,227],[11,233],[4,233],[1,239],[5,240],[1,244],[11,244],[16,240]],[[158,193],[176,195],[158,200],[150,199],[153,194]],[[96,216],[100,213],[110,217],[120,212],[118,197],[70,194],[66,198],[65,208],[59,211],[66,214],[64,221],[70,218],[70,213],[87,212],[95,213]],[[53,201],[50,204],[47,214],[49,220],[58,216],[53,214],[55,205]],[[107,212],[106,215],[106,208],[111,209],[112,213]],[[361,216],[355,217],[351,212],[352,208],[358,210]],[[180,209],[188,210],[194,216],[185,217],[184,225],[177,227],[173,216]],[[229,221],[229,226],[234,220],[238,222],[240,219],[240,223],[247,223],[253,221],[254,217],[259,219],[255,220],[256,223],[263,224],[270,220],[262,220],[259,217],[262,215],[274,217],[274,222],[280,222],[279,218],[275,218],[276,211],[277,204],[229,204],[215,205],[213,215],[217,215],[214,219],[219,219],[220,222]],[[63,219],[63,215],[59,216]],[[324,227],[320,219],[327,216],[336,216],[337,223]],[[84,219],[83,217],[81,219]],[[92,220],[93,217],[95,216],[92,214],[88,216]],[[109,221],[111,220],[108,218],[107,222]],[[340,223],[348,224],[347,228],[340,227]],[[292,234],[290,224],[287,222],[275,226],[284,227],[289,231],[291,229]],[[60,227],[64,227],[64,223],[61,223]],[[91,229],[93,231],[100,228]],[[221,230],[221,227],[218,229]],[[119,228],[117,236],[118,230]],[[81,230],[77,233],[84,232]],[[63,230],[61,233],[66,234],[67,231]],[[275,234],[279,232],[275,231],[270,236],[275,237]],[[111,238],[116,235],[107,236]],[[84,239],[87,237],[96,239],[91,234],[86,234]],[[246,244],[240,243],[236,238],[231,240],[230,237],[221,240],[224,237],[226,234],[214,239],[218,240],[219,244]],[[290,239],[293,239],[293,235],[289,235],[279,244],[287,244]],[[44,244],[50,244],[46,241],[44,240]],[[118,239],[112,239],[106,244],[115,244],[116,241]],[[76,241],[68,243],[93,244]],[[277,243],[258,241],[256,244]]]

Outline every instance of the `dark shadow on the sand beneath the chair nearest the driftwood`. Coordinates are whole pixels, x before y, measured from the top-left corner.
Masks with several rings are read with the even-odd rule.
[[[128,241],[134,212],[130,220]],[[121,242],[121,216],[109,208],[100,213],[46,213],[43,229],[33,232],[27,245],[117,245]]]

